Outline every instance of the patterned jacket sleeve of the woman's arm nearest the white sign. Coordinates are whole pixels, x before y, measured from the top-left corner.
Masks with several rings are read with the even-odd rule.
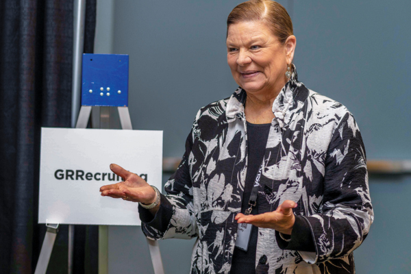
[[[190,176],[189,160],[193,144],[192,130],[186,140],[186,152],[177,171],[166,182],[167,195],[162,195],[159,212],[153,221],[142,223],[142,231],[152,240],[164,238],[193,238],[198,236],[197,223],[192,203],[192,182]],[[164,214],[165,212],[165,214]],[[163,220],[158,220],[162,218]],[[164,220],[166,219],[166,220]],[[142,220],[144,221],[144,220]],[[155,223],[164,223],[160,229]],[[167,224],[168,222],[168,224]],[[155,228],[156,227],[156,228]]]

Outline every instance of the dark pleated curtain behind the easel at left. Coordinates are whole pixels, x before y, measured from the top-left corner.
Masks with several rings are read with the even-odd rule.
[[[92,52],[96,0],[87,1]],[[0,273],[33,273],[38,225],[40,127],[70,127],[73,0],[0,1]],[[77,227],[79,227],[77,229]],[[48,273],[67,273],[67,225]],[[74,273],[97,273],[97,228],[76,226]]]

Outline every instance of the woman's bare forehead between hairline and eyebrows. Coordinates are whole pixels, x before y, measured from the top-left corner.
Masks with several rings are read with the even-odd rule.
[[[262,21],[241,21],[228,27],[227,43],[253,42],[254,40],[277,40],[266,23]]]

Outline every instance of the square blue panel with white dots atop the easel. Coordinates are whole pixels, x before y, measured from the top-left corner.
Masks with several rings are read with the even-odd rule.
[[[129,56],[83,54],[82,105],[128,106]]]

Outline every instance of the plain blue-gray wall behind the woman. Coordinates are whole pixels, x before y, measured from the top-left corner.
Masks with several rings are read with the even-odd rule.
[[[134,129],[164,130],[164,157],[183,154],[201,106],[236,89],[225,20],[239,2],[98,1],[109,15],[97,18],[96,49],[129,54]],[[411,2],[279,1],[292,2],[299,79],[353,112],[369,160],[411,158]],[[410,273],[411,178],[371,176],[370,188],[375,222],[355,251],[357,271]],[[110,235],[110,273],[153,273],[140,227],[113,227]],[[188,273],[192,245],[160,242],[166,273]]]

